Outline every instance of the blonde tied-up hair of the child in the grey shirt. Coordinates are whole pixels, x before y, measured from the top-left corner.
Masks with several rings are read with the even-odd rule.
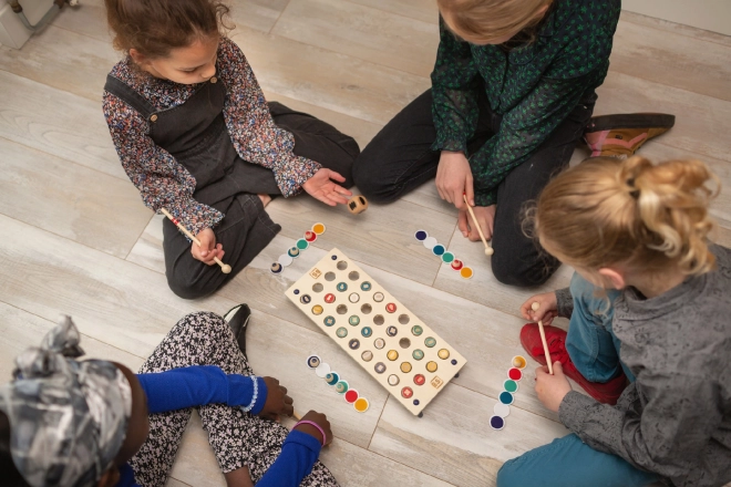
[[[715,262],[707,241],[713,227],[708,207],[719,188],[718,177],[699,160],[653,165],[639,156],[597,157],[548,183],[534,229],[544,246],[575,267],[677,266],[683,274],[702,274]]]

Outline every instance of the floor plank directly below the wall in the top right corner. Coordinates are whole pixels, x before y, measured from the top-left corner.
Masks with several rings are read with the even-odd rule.
[[[632,22],[619,22],[610,70],[731,101],[730,58],[729,45]],[[658,107],[657,111],[665,108]]]

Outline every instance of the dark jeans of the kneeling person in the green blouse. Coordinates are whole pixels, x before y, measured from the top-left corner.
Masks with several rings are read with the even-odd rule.
[[[495,278],[512,286],[544,283],[560,265],[527,237],[523,228],[524,206],[535,200],[553,175],[568,165],[591,117],[594,91],[554,129],[536,152],[514,168],[497,188],[497,209],[493,231],[492,269]],[[480,118],[474,136],[467,141],[472,154],[492,137],[502,117],[481,96]],[[353,180],[370,200],[390,203],[436,175],[441,153],[432,151],[436,129],[432,120],[432,91],[411,102],[363,149],[353,164]]]

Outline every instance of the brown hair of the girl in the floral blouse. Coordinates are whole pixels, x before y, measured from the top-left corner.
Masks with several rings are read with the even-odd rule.
[[[104,0],[114,48],[166,58],[196,39],[225,34],[228,7],[218,0]]]

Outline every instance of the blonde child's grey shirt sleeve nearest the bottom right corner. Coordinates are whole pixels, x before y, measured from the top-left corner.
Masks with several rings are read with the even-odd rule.
[[[721,424],[718,383],[679,372],[644,374],[641,381],[647,397],[639,396],[636,382],[617,406],[572,391],[564,397],[558,417],[594,449],[665,477],[692,479],[711,433]],[[640,415],[632,406],[645,402]]]

